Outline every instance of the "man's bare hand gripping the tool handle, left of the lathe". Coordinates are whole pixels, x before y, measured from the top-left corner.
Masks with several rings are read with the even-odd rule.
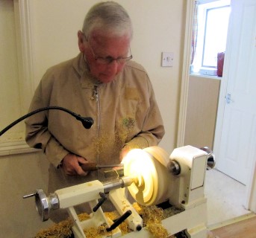
[[[87,176],[87,172],[82,170],[80,164],[86,164],[88,161],[78,155],[67,154],[62,161],[62,167],[67,176]]]

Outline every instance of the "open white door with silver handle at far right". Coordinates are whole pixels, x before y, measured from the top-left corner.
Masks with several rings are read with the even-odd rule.
[[[256,158],[256,0],[231,1],[227,86],[216,168],[243,184]]]

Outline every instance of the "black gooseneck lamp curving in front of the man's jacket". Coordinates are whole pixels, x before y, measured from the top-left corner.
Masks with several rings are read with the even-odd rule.
[[[15,126],[17,123],[19,123],[20,121],[24,120],[25,118],[29,118],[29,117],[31,117],[31,115],[37,114],[38,112],[42,112],[42,111],[46,111],[46,110],[52,110],[52,109],[60,110],[60,111],[69,113],[70,115],[72,115],[77,120],[80,120],[85,129],[90,129],[91,126],[93,126],[93,122],[94,122],[93,118],[89,118],[89,117],[88,118],[84,118],[81,115],[78,115],[75,112],[72,112],[69,109],[65,109],[65,108],[63,108],[61,106],[46,106],[46,107],[43,107],[41,109],[37,109],[37,110],[34,110],[32,112],[29,112],[28,114],[22,116],[21,118],[19,118],[17,120],[14,120],[13,123],[10,123],[9,126],[6,126],[4,129],[1,130],[0,136],[3,135],[5,132],[7,132],[8,129],[10,129],[11,127]]]

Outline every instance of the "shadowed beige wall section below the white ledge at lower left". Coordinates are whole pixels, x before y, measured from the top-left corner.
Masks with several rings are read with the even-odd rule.
[[[34,198],[22,199],[37,188],[47,191],[48,163],[40,152],[0,158],[0,237],[33,237],[52,222],[42,222]]]

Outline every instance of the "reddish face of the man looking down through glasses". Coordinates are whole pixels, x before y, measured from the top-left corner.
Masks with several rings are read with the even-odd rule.
[[[81,50],[81,47],[79,48]],[[118,62],[118,60],[113,59],[129,57],[129,49],[130,38],[128,36],[114,37],[93,32],[90,39],[84,42],[84,48],[81,52],[84,52],[90,67],[90,74],[102,83],[110,83],[125,66],[125,62]],[[96,60],[97,58],[99,60]],[[102,59],[110,60],[104,63]]]

